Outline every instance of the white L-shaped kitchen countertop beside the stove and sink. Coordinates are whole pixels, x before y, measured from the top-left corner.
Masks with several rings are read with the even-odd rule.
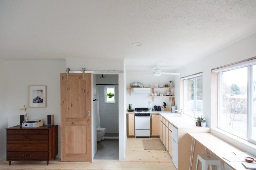
[[[134,113],[134,112],[127,112]],[[195,119],[189,118],[186,115],[180,116],[180,113],[172,113],[171,111],[150,111],[150,113],[159,113],[163,118],[170,122],[177,128],[209,128],[209,127],[197,127]]]

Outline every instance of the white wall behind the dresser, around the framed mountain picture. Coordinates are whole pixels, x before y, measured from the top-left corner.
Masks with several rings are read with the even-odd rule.
[[[19,124],[19,111],[24,105],[28,107],[29,85],[47,86],[47,108],[29,108],[29,119],[42,119],[45,124],[47,115],[54,115],[54,124],[58,127],[58,155],[60,156],[60,73],[66,70],[65,60],[34,60],[34,61],[8,61],[6,114],[8,127]],[[1,72],[2,73],[2,72]],[[2,89],[2,88],[0,88]],[[2,138],[1,141],[5,139]]]

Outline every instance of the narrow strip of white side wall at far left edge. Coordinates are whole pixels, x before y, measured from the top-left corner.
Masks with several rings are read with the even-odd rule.
[[[6,114],[6,95],[7,95],[7,62],[0,60],[0,161],[4,160],[6,157],[6,130],[7,124],[7,114]]]

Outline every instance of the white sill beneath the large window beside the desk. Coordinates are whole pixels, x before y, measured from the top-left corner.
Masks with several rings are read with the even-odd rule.
[[[230,144],[233,144],[233,145],[245,150],[246,152],[251,153],[252,155],[256,155],[256,144],[248,142],[242,138],[239,138],[235,135],[225,132],[224,130],[221,130],[219,128],[211,128],[211,133],[224,139],[225,141],[229,142]]]

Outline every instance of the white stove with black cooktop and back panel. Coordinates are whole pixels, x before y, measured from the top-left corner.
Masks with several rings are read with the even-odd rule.
[[[150,112],[148,108],[135,108],[135,137],[150,138]]]

